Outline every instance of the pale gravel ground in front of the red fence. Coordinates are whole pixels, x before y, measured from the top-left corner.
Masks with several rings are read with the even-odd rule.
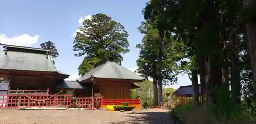
[[[149,123],[168,124],[167,110],[147,109],[134,112],[111,112],[104,110],[14,110],[0,109],[2,124],[105,124]]]

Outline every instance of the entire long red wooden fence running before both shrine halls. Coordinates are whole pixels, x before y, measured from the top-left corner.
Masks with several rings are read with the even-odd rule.
[[[0,108],[27,108],[38,107],[70,107],[70,108],[102,108],[106,105],[121,105],[127,102],[129,105],[140,104],[139,99],[103,99],[96,100],[91,97],[73,97],[73,95],[32,95],[32,94],[8,94],[0,95]]]

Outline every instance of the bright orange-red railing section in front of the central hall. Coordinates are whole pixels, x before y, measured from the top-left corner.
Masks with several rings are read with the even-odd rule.
[[[121,105],[123,102],[129,103],[129,105],[140,104],[139,99],[103,99],[102,105]]]

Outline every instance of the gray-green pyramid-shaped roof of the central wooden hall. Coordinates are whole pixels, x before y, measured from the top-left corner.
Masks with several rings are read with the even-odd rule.
[[[77,81],[81,82],[90,79],[91,76],[103,79],[141,80],[141,82],[144,80],[144,78],[136,75],[136,73],[122,67],[115,62],[106,62],[105,64],[93,68],[81,78],[77,79]]]

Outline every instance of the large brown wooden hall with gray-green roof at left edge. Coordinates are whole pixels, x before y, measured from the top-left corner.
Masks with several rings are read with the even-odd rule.
[[[0,76],[8,79],[10,90],[47,90],[56,92],[58,82],[69,77],[54,66],[46,49],[5,45],[0,51]]]

